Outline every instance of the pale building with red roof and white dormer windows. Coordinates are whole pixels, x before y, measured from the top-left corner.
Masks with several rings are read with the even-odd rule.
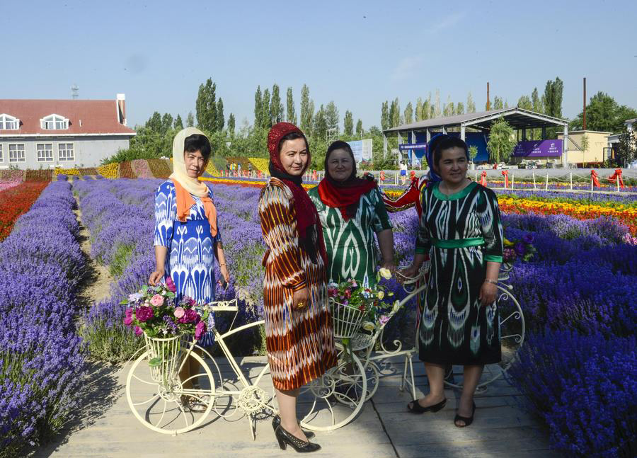
[[[0,99],[0,168],[95,167],[127,149],[124,94],[115,100]]]

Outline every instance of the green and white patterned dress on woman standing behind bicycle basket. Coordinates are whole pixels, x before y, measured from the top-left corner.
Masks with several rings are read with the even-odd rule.
[[[319,210],[328,255],[328,280],[355,279],[365,287],[376,286],[378,264],[374,233],[391,229],[381,194],[374,188],[360,196],[356,216],[347,222],[337,207],[328,207],[319,197],[319,187],[308,194]]]

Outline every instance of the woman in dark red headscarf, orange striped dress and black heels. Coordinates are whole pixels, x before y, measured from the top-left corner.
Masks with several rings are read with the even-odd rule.
[[[299,388],[336,365],[328,309],[326,251],[319,214],[302,187],[310,163],[307,140],[279,122],[268,134],[270,181],[259,197],[268,247],[263,258],[265,345],[280,418],[272,421],[279,445],[297,452],[321,447],[307,440],[297,420]]]

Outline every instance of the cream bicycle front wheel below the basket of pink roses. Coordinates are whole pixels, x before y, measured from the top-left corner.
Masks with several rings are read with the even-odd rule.
[[[126,379],[126,398],[142,425],[157,433],[176,435],[197,428],[206,419],[214,404],[212,372],[194,351],[188,358],[198,362],[200,370],[183,382],[178,377],[156,382],[151,377],[148,352],[133,362]],[[188,359],[183,362],[189,363]]]

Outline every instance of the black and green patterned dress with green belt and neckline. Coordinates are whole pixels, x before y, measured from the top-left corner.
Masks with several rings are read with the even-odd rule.
[[[500,328],[494,304],[478,296],[487,261],[502,262],[503,229],[498,198],[470,183],[444,195],[440,183],[423,190],[416,253],[430,253],[431,273],[418,329],[420,360],[434,364],[499,362]]]

